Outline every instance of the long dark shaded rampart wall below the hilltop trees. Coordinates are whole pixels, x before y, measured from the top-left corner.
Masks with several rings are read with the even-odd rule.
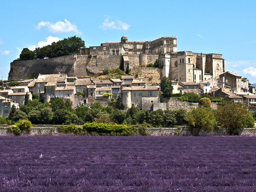
[[[15,61],[11,63],[8,80],[26,79],[30,73],[34,73],[35,78],[38,77],[39,73],[42,75],[66,73],[68,76],[74,76],[74,63],[75,60],[73,60],[72,55]]]

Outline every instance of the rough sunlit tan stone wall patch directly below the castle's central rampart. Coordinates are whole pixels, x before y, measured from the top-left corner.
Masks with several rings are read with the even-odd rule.
[[[131,74],[134,76],[139,74],[137,79],[144,79],[147,83],[160,83],[163,75],[162,69],[155,67],[134,67],[131,69]]]

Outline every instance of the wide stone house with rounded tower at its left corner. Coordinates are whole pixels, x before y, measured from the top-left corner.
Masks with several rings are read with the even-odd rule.
[[[131,86],[124,87],[121,92],[122,104],[124,110],[128,110],[132,106],[142,108],[144,103],[153,103],[159,101],[159,86]],[[151,106],[150,106],[151,107]]]

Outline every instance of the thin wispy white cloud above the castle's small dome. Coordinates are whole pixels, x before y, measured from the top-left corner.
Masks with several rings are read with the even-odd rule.
[[[104,20],[101,26],[99,28],[102,28],[103,30],[107,29],[119,29],[119,30],[127,30],[131,25],[128,25],[127,23],[124,23],[120,20],[115,21],[109,21],[111,19],[111,16],[107,15],[107,18]]]

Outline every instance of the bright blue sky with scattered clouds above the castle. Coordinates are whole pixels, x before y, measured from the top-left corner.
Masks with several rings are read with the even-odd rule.
[[[255,9],[255,0],[1,1],[0,76],[24,47],[74,35],[86,47],[177,35],[178,51],[222,54],[226,71],[256,83]]]

